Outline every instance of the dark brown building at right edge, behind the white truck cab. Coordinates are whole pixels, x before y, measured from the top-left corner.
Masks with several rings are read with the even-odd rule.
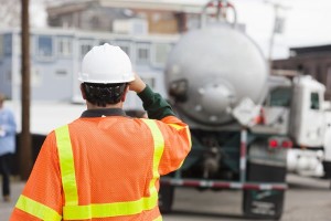
[[[325,85],[325,99],[331,99],[331,45],[292,48],[290,57],[274,61],[273,67],[312,75]]]

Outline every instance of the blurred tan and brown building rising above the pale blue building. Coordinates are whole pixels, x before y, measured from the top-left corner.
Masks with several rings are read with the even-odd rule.
[[[51,27],[119,32],[116,22],[128,22],[127,32],[182,33],[200,25],[207,0],[85,0],[47,7]],[[143,23],[145,22],[145,23]]]

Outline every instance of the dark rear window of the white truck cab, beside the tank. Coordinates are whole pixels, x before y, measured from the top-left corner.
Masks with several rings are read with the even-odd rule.
[[[289,87],[277,87],[271,91],[269,106],[289,107],[291,102],[291,90]]]

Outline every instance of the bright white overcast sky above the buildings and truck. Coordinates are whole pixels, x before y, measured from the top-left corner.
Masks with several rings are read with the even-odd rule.
[[[34,27],[45,27],[46,12],[42,1],[44,0],[31,0],[31,23]],[[207,0],[175,1],[199,3]],[[246,33],[261,48],[267,57],[270,54],[275,19],[271,3],[280,3],[286,8],[279,12],[279,15],[285,18],[285,25],[284,32],[274,38],[273,59],[289,56],[289,48],[331,44],[331,25],[328,23],[331,21],[331,0],[231,0],[229,2],[236,8],[238,22],[246,24]]]

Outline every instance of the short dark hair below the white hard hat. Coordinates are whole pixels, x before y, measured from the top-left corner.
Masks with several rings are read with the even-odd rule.
[[[107,104],[119,103],[128,84],[83,83],[82,85],[86,99],[90,104],[105,107]]]

